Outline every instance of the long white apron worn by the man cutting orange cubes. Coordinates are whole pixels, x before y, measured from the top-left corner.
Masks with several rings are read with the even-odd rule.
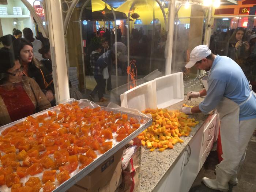
[[[251,85],[250,85],[251,88]],[[256,127],[256,119],[239,121],[240,106],[246,103],[255,93],[251,89],[250,96],[238,105],[236,102],[223,97],[217,106],[221,120],[221,144],[223,161],[217,165],[226,174],[233,176],[240,161],[244,160],[246,146]]]

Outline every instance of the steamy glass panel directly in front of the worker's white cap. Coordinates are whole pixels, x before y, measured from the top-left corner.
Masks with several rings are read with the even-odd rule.
[[[206,28],[206,9],[201,5],[176,4],[177,12],[174,21],[173,53],[172,53],[172,73],[184,72],[184,93],[201,89],[200,82],[193,82],[196,78],[196,67],[186,69],[185,65],[189,61],[189,54],[197,45],[204,44],[204,34]]]

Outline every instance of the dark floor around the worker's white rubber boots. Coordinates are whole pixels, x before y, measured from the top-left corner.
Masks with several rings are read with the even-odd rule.
[[[229,185],[229,192],[256,192],[256,136],[252,136],[246,152],[244,165],[238,173],[238,184]],[[211,151],[202,169],[198,173],[189,192],[215,192],[217,190],[206,187],[203,177],[216,178],[215,165],[218,164],[217,151]]]

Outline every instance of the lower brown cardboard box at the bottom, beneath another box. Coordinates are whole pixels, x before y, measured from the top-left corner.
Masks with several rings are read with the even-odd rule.
[[[96,183],[92,188],[86,189],[77,184],[72,186],[67,192],[114,192],[122,182],[122,162],[119,161],[114,171],[109,171],[104,178]],[[110,180],[108,179],[110,178]],[[107,184],[106,180],[109,181]]]

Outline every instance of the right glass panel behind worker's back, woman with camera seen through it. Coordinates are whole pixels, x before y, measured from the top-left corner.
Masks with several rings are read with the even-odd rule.
[[[215,18],[210,39],[212,52],[236,61],[253,86],[256,85],[255,26],[255,16]]]

